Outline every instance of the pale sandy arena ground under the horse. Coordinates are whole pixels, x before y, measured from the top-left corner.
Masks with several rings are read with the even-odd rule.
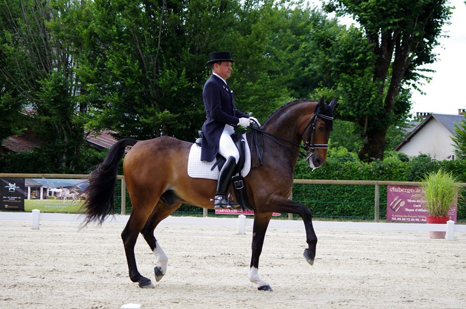
[[[0,308],[465,308],[466,234],[454,241],[428,232],[316,230],[314,266],[302,256],[304,228],[269,228],[259,274],[248,279],[252,229],[161,225],[168,255],[155,282],[155,257],[142,236],[136,262],[155,289],[130,281],[122,224],[0,221]]]

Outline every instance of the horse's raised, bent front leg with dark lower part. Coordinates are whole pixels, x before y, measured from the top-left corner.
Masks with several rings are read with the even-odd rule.
[[[294,202],[286,197],[278,196],[273,199],[270,209],[280,213],[297,213],[301,216],[306,229],[308,248],[304,249],[304,258],[313,265],[316,257],[317,235],[312,225],[312,212],[305,205]]]

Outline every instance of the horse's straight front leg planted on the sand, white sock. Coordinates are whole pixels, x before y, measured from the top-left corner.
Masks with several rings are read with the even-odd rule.
[[[261,279],[259,276],[259,257],[262,253],[262,246],[264,244],[264,237],[272,213],[255,213],[254,225],[252,227],[252,255],[249,271],[249,279],[251,282],[257,284],[257,290],[272,291],[268,283]]]

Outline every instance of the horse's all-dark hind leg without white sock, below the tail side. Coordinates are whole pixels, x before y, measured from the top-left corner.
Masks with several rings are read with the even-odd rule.
[[[128,262],[130,279],[133,282],[137,282],[141,288],[153,288],[154,285],[150,279],[142,276],[137,270],[136,258],[134,257],[134,245],[136,244],[139,232],[142,230],[150,216],[151,209],[139,209],[134,206],[135,204],[133,203],[133,211],[131,212],[126,227],[121,232],[121,239],[125,246],[126,261]]]

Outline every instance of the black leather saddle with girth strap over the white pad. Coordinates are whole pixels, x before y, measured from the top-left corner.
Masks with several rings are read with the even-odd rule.
[[[196,145],[201,146],[202,145],[202,130],[199,130],[199,137],[196,139]],[[243,138],[243,135],[239,133],[233,133],[232,134],[232,140],[234,145],[239,151],[239,160],[238,163],[236,164],[236,168],[234,170],[233,176],[232,177],[232,183],[233,183],[233,189],[234,189],[234,195],[238,198],[239,204],[241,204],[241,207],[243,211],[247,210],[252,210],[249,201],[248,201],[248,195],[246,194],[246,186],[245,186],[245,181],[244,177],[241,176],[241,170],[244,167],[244,163],[246,161],[246,146],[245,146],[245,141]],[[220,171],[223,167],[223,164],[226,162],[226,159],[217,153],[216,155],[216,163],[212,166],[211,170],[214,170],[215,167],[218,168],[218,171]]]

